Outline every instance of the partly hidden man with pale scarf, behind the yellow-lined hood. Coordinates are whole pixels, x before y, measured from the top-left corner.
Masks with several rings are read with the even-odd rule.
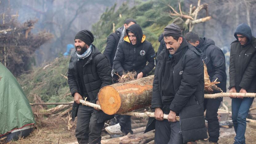
[[[126,19],[124,25],[122,27],[119,27],[114,33],[110,34],[107,38],[107,46],[103,54],[106,55],[112,67],[111,74],[114,83],[118,82],[118,75],[115,74],[116,71],[113,68],[114,58],[119,49],[120,42],[122,42],[124,40],[124,36],[126,36],[126,29],[135,23],[136,21],[132,18]]]

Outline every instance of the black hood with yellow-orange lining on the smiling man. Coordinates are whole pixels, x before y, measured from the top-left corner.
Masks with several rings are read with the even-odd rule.
[[[128,31],[131,31],[133,34],[136,35],[136,40],[137,40],[136,46],[140,45],[142,42],[145,41],[146,35],[144,35],[142,33],[142,29],[138,24],[133,24],[133,25],[129,26],[126,30],[126,35],[127,35],[127,38],[128,38],[129,41],[127,40],[127,38],[124,38],[124,40],[126,42],[130,43],[130,39],[128,37]]]

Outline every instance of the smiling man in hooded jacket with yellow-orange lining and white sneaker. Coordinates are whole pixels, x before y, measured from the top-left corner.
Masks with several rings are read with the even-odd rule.
[[[129,71],[136,71],[137,79],[145,77],[155,66],[155,51],[151,43],[146,41],[146,36],[142,33],[138,24],[128,27],[126,34],[127,36],[120,43],[118,53],[114,59],[114,69],[122,77]],[[110,134],[120,134],[121,131],[125,134],[132,133],[130,117],[122,115],[119,123],[106,127],[106,131]],[[126,126],[129,126],[130,129],[125,129]]]

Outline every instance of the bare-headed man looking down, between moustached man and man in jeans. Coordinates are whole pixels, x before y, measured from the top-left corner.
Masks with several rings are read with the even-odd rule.
[[[210,38],[199,38],[198,34],[188,32],[185,35],[188,43],[202,50],[202,60],[206,64],[207,72],[211,82],[218,81],[217,84],[223,92],[226,92],[226,62],[225,55],[220,48],[215,46],[215,42]],[[219,93],[213,91],[213,93]],[[220,135],[218,108],[223,98],[205,98],[204,110],[206,110],[206,120],[208,121],[209,142],[217,143]]]

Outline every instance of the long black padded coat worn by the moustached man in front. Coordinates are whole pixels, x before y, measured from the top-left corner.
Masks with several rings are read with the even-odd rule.
[[[152,108],[162,108],[163,70],[169,51],[165,50],[158,56],[155,70]],[[191,142],[207,138],[203,101],[204,72],[202,51],[187,44],[183,38],[182,45],[173,55],[175,96],[170,104],[170,110],[180,113],[180,125],[183,142]]]

